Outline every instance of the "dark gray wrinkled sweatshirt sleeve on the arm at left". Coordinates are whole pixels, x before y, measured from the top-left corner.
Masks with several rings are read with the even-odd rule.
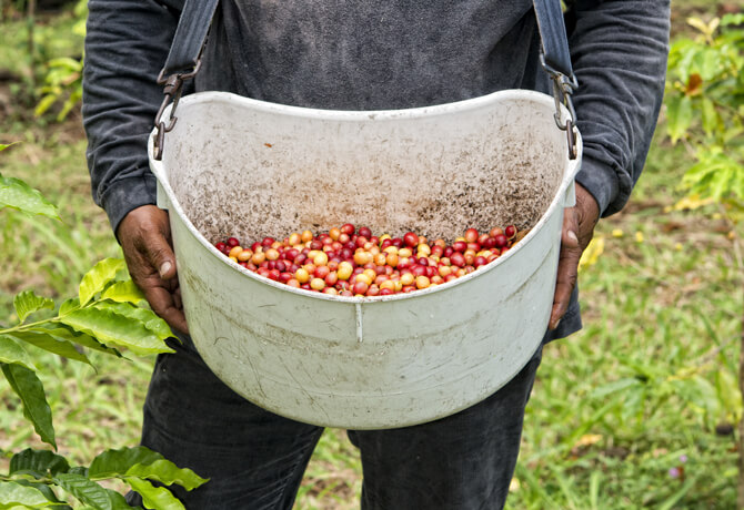
[[[182,3],[182,2],[181,2]],[[147,141],[163,99],[157,84],[178,24],[179,0],[90,0],[83,126],[93,200],[114,232],[133,208],[155,203]]]

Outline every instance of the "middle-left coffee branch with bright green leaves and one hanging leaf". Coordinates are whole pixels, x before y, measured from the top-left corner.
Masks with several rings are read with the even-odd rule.
[[[118,349],[121,347],[138,355],[172,351],[163,341],[172,336],[165,322],[152,310],[137,307],[142,299],[141,295],[131,294],[129,302],[113,302],[102,297],[114,284],[129,287],[125,283],[129,280],[121,279],[125,277],[124,274],[123,261],[101,261],[83,276],[80,298],[68,299],[57,315],[32,323],[26,323],[29,315],[54,308],[54,302],[32,292],[21,293],[16,297],[19,323],[0,328],[3,374],[23,402],[24,414],[37,432],[52,446],[56,443],[51,411],[43,386],[30,363],[32,357],[24,345],[82,363],[90,363],[78,350],[83,348],[114,356],[120,355]]]

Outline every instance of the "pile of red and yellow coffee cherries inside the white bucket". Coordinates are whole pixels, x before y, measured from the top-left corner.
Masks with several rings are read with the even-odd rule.
[[[375,236],[348,223],[326,233],[265,237],[244,247],[235,237],[217,249],[249,271],[291,287],[333,296],[389,296],[451,282],[495,261],[524,237],[514,225],[467,228],[451,245],[409,232]]]

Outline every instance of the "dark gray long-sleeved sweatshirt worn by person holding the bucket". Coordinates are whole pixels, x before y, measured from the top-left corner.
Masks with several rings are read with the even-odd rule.
[[[566,17],[584,157],[603,215],[622,208],[664,90],[670,2],[581,1]],[[90,0],[83,122],[95,202],[112,226],[153,204],[147,137],[182,0]],[[299,106],[378,110],[502,89],[547,92],[530,0],[222,0],[195,90]],[[574,296],[551,337],[581,326]]]

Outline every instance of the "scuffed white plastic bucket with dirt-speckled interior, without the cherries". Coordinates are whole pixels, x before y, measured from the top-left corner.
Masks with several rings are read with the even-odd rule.
[[[530,359],[550,316],[581,160],[581,140],[567,159],[553,113],[552,98],[529,91],[376,112],[183,98],[150,165],[201,356],[249,400],[321,426],[415,425],[491,395]],[[531,231],[486,268],[374,298],[292,289],[212,246],[346,222],[450,241],[469,226]]]

